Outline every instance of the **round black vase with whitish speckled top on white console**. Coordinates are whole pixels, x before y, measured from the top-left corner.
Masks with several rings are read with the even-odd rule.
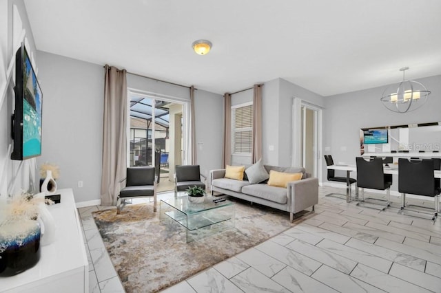
[[[0,276],[14,276],[38,263],[41,236],[38,222],[28,220],[3,228],[0,232]],[[8,231],[17,231],[16,237],[8,235]]]

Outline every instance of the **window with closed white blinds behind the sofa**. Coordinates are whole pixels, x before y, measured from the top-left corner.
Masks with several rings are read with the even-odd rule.
[[[252,153],[253,105],[234,108],[233,153]]]

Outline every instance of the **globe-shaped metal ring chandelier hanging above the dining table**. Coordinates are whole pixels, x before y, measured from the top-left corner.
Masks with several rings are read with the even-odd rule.
[[[430,91],[422,83],[404,78],[404,72],[407,69],[409,67],[400,68],[402,82],[387,87],[381,97],[384,107],[393,112],[406,113],[416,110],[429,98]]]

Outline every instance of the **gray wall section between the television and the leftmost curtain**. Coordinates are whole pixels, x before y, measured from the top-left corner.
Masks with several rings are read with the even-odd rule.
[[[37,159],[57,164],[59,188],[75,202],[100,198],[103,143],[103,66],[38,52],[43,92],[43,145]],[[78,182],[83,181],[83,187]]]

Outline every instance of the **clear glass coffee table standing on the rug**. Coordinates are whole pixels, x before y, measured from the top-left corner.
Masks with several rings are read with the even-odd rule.
[[[234,228],[236,211],[234,203],[225,199],[223,202],[213,202],[219,197],[204,196],[204,202],[199,204],[189,202],[187,196],[161,199],[159,219],[176,221],[185,228],[187,243],[217,232]]]

